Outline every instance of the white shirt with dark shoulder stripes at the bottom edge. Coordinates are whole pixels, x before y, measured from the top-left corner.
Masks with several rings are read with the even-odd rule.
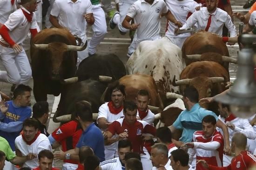
[[[125,167],[122,166],[119,157],[114,159],[109,159],[100,163],[102,170],[125,170]]]

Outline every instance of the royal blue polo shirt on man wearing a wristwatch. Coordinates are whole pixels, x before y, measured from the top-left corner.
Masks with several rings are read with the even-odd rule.
[[[95,126],[94,123],[91,123],[87,127],[76,144],[77,148],[81,148],[82,146],[91,147],[94,150],[94,154],[99,157],[101,162],[105,161],[104,137],[101,130]]]

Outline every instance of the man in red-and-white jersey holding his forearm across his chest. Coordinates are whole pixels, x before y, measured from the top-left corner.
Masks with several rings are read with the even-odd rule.
[[[189,162],[196,154],[196,160],[203,159],[210,165],[222,166],[224,139],[216,131],[216,118],[207,115],[202,119],[202,131],[195,131],[193,142],[184,144],[189,149]],[[201,164],[196,164],[196,170],[204,170]]]

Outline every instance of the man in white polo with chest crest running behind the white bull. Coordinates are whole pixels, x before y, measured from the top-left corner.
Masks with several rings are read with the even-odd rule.
[[[137,36],[133,39],[135,49],[141,41],[160,39],[160,17],[165,16],[175,26],[181,27],[182,23],[177,21],[168,10],[163,0],[137,0],[128,10],[122,26],[135,31]],[[134,19],[135,23],[130,24]]]

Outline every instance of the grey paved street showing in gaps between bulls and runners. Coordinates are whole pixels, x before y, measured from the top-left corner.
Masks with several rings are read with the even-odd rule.
[[[243,13],[247,13],[248,10],[244,10],[242,8],[243,4],[246,2],[246,0],[231,0],[232,3],[232,8],[233,11],[239,11],[239,12],[243,12]],[[236,25],[236,30],[238,31],[238,24],[239,21],[237,19],[234,20],[235,25]],[[107,24],[109,23],[109,19],[107,19]],[[165,31],[165,26],[166,26],[166,19],[162,18],[162,28],[161,28],[161,34],[164,35],[164,31]],[[88,37],[90,39],[91,37],[91,28],[88,28]],[[130,39],[128,34],[122,36],[120,35],[118,29],[116,28],[115,30],[111,30],[108,26],[108,33],[104,39],[103,42],[101,42],[101,44],[98,46],[97,48],[97,53],[99,54],[106,54],[106,53],[114,53],[117,56],[120,57],[120,59],[123,61],[124,64],[126,64],[128,57],[126,57],[127,54],[127,49],[128,46],[130,44]],[[229,55],[232,58],[237,58],[237,51],[238,46],[228,46],[229,49]],[[229,65],[229,72],[230,72],[230,79],[232,81],[234,81],[235,77],[236,77],[236,69],[237,66],[234,64],[230,64]],[[3,65],[0,63],[0,70],[5,70],[5,68],[3,67]],[[30,80],[29,85],[31,87],[33,87],[33,79]],[[9,94],[11,85],[7,84],[7,83],[3,83],[0,82],[0,91]],[[59,101],[60,97],[54,97],[53,95],[48,95],[48,103],[49,103],[49,107],[50,107],[50,111],[51,111],[51,116],[49,119],[49,126],[48,126],[48,132],[52,132],[56,127],[58,127],[59,124],[54,124],[52,121],[52,117],[54,112],[56,111],[56,107],[58,105],[58,101]],[[31,103],[32,105],[34,105],[35,100],[34,100],[34,95],[32,93],[32,97],[31,97]],[[55,165],[57,167],[61,167],[62,162],[61,161],[55,161]]]

